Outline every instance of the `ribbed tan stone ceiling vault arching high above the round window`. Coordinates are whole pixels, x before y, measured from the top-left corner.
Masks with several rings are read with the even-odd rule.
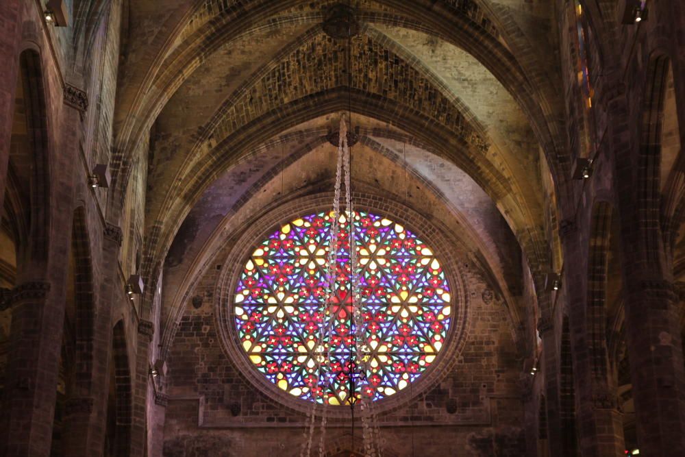
[[[499,228],[482,230],[465,210],[473,202],[441,184],[427,164],[437,161],[452,177],[463,176],[456,182],[468,181],[469,193],[484,197],[479,204],[501,214],[534,275],[549,267],[540,170],[549,169],[553,185],[564,192],[569,166],[559,128],[560,91],[551,83],[556,65],[538,39],[553,27],[549,6],[355,1],[362,27],[353,39],[350,88],[346,40],[321,31],[323,13],[334,1],[171,0],[163,12],[152,3],[128,5],[112,158],[122,195],[136,145],[151,136],[146,276],[158,277],[169,249],[173,254],[179,243],[174,240],[183,237],[182,223],[204,208],[216,183],[232,173],[256,177],[251,167],[245,170],[254,154],[271,157],[262,169],[269,173],[280,162],[273,161],[275,138],[286,134],[315,149],[340,112],[351,108],[355,126],[366,132],[364,147],[377,160],[396,153],[398,141],[411,145],[412,179],[439,195],[453,217],[475,224],[463,236],[486,259],[513,314],[521,312],[511,297],[521,294],[514,284],[522,275],[504,274],[521,264],[503,262]],[[428,162],[414,160],[421,154]],[[318,182],[329,179],[322,175]],[[233,210],[225,206],[217,214]],[[214,228],[203,228],[200,239],[212,238]],[[206,262],[207,245],[192,249],[199,257],[184,261],[195,268]],[[176,303],[188,290],[169,301]],[[519,328],[516,321],[512,328]]]

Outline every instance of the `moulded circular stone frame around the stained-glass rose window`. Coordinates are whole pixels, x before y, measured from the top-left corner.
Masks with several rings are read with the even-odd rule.
[[[239,235],[234,238],[235,243],[229,248],[228,254],[221,264],[214,293],[216,326],[219,329],[221,347],[229,360],[250,384],[273,402],[303,414],[312,411],[310,400],[296,397],[282,390],[269,381],[249,361],[247,353],[240,344],[240,337],[234,323],[234,291],[240,279],[240,272],[258,243],[279,230],[284,224],[299,217],[330,210],[332,199],[332,193],[313,198],[303,197],[285,203],[275,210],[262,212],[262,214],[258,214],[250,221],[242,224],[240,229],[234,232]],[[444,227],[438,227],[418,212],[396,201],[367,195],[354,195],[353,200],[356,208],[360,211],[387,217],[393,222],[404,225],[436,253],[440,264],[445,269],[445,277],[451,287],[450,304],[452,309],[456,310],[451,328],[447,331],[445,346],[438,353],[436,361],[432,363],[431,367],[421,373],[416,381],[411,382],[402,391],[373,403],[376,413],[390,412],[401,408],[421,393],[434,387],[449,374],[453,365],[456,365],[457,356],[462,352],[467,338],[466,330],[468,328],[469,294],[466,291],[466,281],[458,267],[463,254],[456,249],[456,246],[461,244],[460,241],[449,236],[449,232]],[[259,227],[267,228],[260,230]],[[316,414],[326,417],[351,416],[349,408],[344,406],[318,405]]]

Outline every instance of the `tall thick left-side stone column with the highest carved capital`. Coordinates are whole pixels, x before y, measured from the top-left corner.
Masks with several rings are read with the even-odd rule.
[[[79,145],[78,112],[64,108],[54,125],[59,135],[49,148],[48,199],[37,199],[39,221],[32,227],[32,258],[22,269],[12,305],[10,356],[0,421],[0,455],[49,456],[66,301],[73,226],[74,168]],[[59,151],[59,152],[58,152]],[[47,164],[46,164],[47,165]]]

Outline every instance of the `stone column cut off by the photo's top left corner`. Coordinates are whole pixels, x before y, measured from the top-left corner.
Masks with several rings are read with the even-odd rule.
[[[0,1],[0,208],[3,208],[7,167],[10,160],[10,138],[14,118],[14,95],[19,70],[21,43],[21,1]]]

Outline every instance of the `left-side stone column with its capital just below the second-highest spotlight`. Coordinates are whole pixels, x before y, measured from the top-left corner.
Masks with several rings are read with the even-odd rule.
[[[107,400],[109,394],[110,360],[112,359],[112,308],[117,299],[117,286],[121,280],[116,269],[107,265],[116,265],[121,247],[121,229],[106,224],[103,234],[101,265],[103,277],[98,284],[97,313],[93,323],[92,372],[83,385],[77,386],[79,395],[67,402],[66,455],[70,457],[97,457],[104,451],[105,432],[107,430]],[[70,406],[76,406],[71,408]]]

